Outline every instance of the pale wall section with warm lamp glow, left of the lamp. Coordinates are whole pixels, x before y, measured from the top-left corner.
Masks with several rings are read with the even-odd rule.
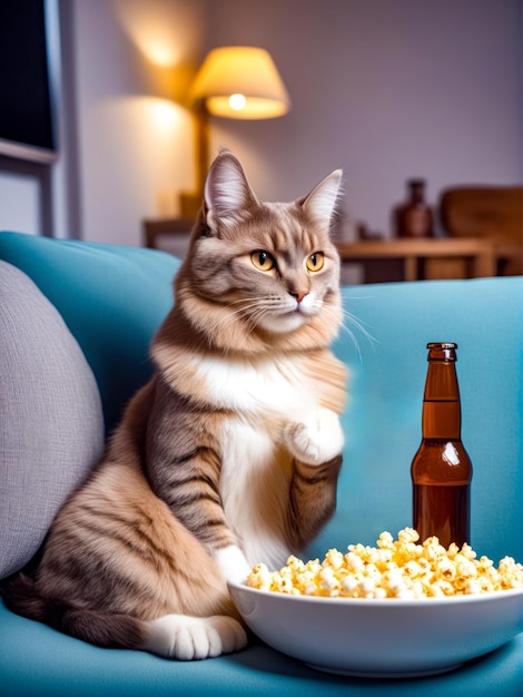
[[[73,0],[81,227],[141,244],[193,183],[190,112],[176,100],[205,27],[199,0]]]

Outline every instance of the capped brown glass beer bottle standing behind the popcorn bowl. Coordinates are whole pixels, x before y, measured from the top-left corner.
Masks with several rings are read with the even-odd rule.
[[[411,467],[413,528],[421,541],[470,543],[472,463],[461,441],[457,344],[431,343],[423,397],[422,443]]]

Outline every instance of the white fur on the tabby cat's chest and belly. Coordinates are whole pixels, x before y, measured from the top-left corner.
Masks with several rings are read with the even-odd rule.
[[[249,565],[278,568],[290,553],[282,533],[293,469],[285,429],[315,414],[318,395],[296,359],[206,357],[198,377],[213,404],[231,413],[221,433],[220,493],[228,526]]]

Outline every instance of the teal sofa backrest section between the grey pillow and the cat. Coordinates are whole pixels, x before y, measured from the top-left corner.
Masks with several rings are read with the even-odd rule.
[[[32,278],[78,340],[110,432],[150,375],[149,342],[172,304],[180,262],[154,249],[18,233],[0,233],[0,258]]]

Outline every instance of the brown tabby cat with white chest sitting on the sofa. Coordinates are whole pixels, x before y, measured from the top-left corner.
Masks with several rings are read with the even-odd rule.
[[[329,225],[342,171],[260,203],[218,154],[155,373],[59,511],[7,606],[102,647],[180,660],[241,649],[227,581],[303,550],[330,518],[347,375]]]

